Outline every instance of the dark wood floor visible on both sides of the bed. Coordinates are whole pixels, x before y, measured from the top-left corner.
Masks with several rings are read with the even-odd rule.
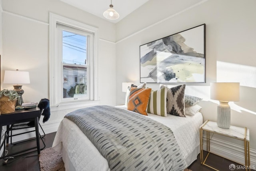
[[[56,132],[49,133],[49,134],[46,134],[46,136],[44,137],[46,148],[52,147],[52,142],[54,140],[55,134]],[[9,153],[13,153],[15,151],[20,151],[25,148],[34,147],[35,145],[36,145],[36,141],[34,140],[34,141],[29,141],[26,143],[19,144],[19,145],[9,145],[8,150],[9,150]],[[42,144],[40,145],[41,145],[40,147],[42,147]],[[21,157],[18,157],[17,159],[11,159],[8,161],[7,165],[3,165],[2,164],[3,162],[4,162],[4,159],[0,159],[0,171],[40,171],[37,152],[23,155]],[[229,169],[230,164],[238,165],[233,161],[224,159],[222,157],[219,157],[213,154],[209,155],[207,159],[207,163],[213,166],[214,168],[219,169],[220,171],[230,171]],[[188,169],[191,169],[192,171],[213,171],[213,169],[210,169],[209,167],[206,167],[206,166],[202,166],[200,164],[199,155],[197,157],[197,160],[194,161],[188,167]],[[239,169],[239,171],[244,171],[244,169]]]

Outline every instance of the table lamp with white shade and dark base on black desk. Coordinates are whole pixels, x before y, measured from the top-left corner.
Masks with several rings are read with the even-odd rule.
[[[27,71],[8,71],[6,70],[4,73],[4,84],[16,84],[13,85],[14,90],[17,91],[20,96],[16,101],[16,106],[21,105],[23,103],[22,94],[24,90],[22,89],[22,85],[19,84],[30,84],[29,72]]]

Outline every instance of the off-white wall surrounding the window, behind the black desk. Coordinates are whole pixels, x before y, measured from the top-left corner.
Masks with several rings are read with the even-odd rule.
[[[22,7],[22,8],[21,8]],[[49,98],[49,12],[99,28],[98,80],[100,104],[116,104],[116,40],[115,25],[59,0],[2,0],[3,53],[2,68],[30,72],[30,84],[24,84],[24,102]],[[1,38],[1,37],[0,37]],[[0,39],[1,40],[1,39]],[[1,41],[0,41],[0,45]],[[1,49],[0,49],[1,50]],[[1,52],[1,51],[0,51]],[[3,74],[2,74],[3,76]],[[13,89],[12,84],[2,84]],[[106,84],[111,83],[111,84]],[[113,84],[112,84],[113,83]],[[83,107],[80,105],[79,107]],[[51,107],[44,131],[56,131],[64,115],[76,108]],[[40,121],[41,122],[41,121]]]

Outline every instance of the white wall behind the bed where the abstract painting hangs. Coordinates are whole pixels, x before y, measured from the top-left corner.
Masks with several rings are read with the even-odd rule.
[[[230,102],[231,124],[250,129],[255,152],[256,1],[204,0],[168,10],[183,2],[189,0],[150,0],[116,24],[116,103],[124,103],[122,82],[140,84],[140,45],[205,23],[206,83],[186,84],[185,93],[204,98],[200,102],[204,121],[216,121],[218,101],[210,100],[210,82],[240,82],[240,101]],[[147,87],[158,89],[159,84]]]

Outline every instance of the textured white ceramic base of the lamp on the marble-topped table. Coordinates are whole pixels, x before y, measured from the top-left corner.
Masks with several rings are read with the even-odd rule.
[[[220,101],[217,107],[217,125],[224,129],[230,128],[230,106],[228,101]]]

